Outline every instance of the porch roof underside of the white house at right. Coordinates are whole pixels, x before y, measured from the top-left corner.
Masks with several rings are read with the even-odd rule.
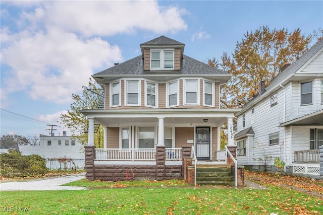
[[[323,110],[284,122],[280,126],[289,125],[323,125]]]

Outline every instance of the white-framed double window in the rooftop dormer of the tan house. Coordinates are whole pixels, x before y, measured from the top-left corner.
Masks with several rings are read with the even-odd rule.
[[[174,69],[174,49],[150,49],[150,69]]]

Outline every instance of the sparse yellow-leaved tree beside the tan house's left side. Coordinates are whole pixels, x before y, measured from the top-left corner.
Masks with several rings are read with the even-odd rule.
[[[72,94],[74,102],[67,114],[61,114],[61,124],[69,128],[75,138],[78,138],[82,144],[87,143],[88,120],[86,116],[79,112],[85,109],[100,109],[100,97],[102,89],[98,88],[96,82],[90,78],[88,87],[83,86],[82,95]],[[94,144],[97,148],[103,148],[103,127],[96,125],[94,133]]]

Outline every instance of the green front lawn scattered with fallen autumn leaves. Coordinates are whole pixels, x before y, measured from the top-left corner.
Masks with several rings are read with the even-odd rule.
[[[76,182],[83,183],[93,182]],[[179,181],[178,184],[181,183]],[[89,190],[1,191],[0,213],[323,214],[322,199],[282,187],[256,190],[177,187],[174,181],[170,185],[164,182],[164,186],[159,184],[154,187],[153,182],[149,184],[151,186],[126,185],[122,188]],[[28,211],[18,211],[24,208],[28,208]],[[5,212],[6,209],[14,211]]]

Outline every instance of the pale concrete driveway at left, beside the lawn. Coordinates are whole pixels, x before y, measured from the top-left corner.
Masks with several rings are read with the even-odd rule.
[[[85,174],[66,175],[57,178],[0,183],[0,191],[11,190],[84,190],[86,187],[61,186],[85,178]]]

